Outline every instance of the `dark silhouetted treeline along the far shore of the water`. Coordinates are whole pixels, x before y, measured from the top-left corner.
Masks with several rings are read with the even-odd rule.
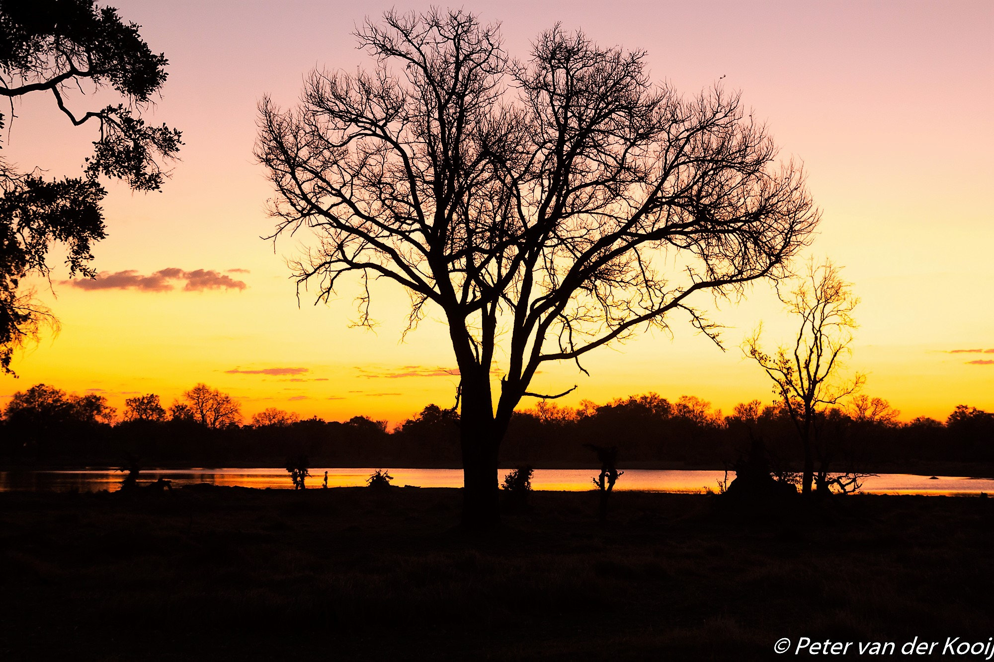
[[[994,462],[994,414],[957,407],[944,421],[899,422],[886,401],[857,397],[822,414],[819,434],[838,470],[875,470],[915,462]],[[393,430],[386,421],[301,420],[269,409],[241,424],[238,404],[198,385],[163,408],[154,394],[131,398],[121,416],[101,396],[46,385],[18,393],[0,425],[7,465],[280,466],[308,456],[311,466],[459,466],[458,414],[428,405]],[[720,467],[755,442],[785,468],[800,459],[793,423],[782,408],[758,401],[731,415],[693,397],[656,394],[588,401],[579,408],[541,402],[514,415],[501,447],[504,465],[593,464],[586,447],[615,445],[625,463]]]

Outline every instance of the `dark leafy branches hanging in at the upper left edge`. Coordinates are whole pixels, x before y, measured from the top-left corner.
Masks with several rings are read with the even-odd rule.
[[[0,1],[0,96],[50,93],[73,124],[98,125],[81,177],[47,181],[0,158],[0,372],[12,373],[14,350],[37,339],[45,323],[55,324],[33,292],[21,288],[25,276],[48,274],[49,248],[66,246],[70,276],[95,274],[91,246],[105,237],[106,191],[98,178],[121,179],[135,191],[162,185],[159,160],[175,157],[181,135],[165,124],[145,124],[140,109],[165,83],[166,64],[137,25],[94,0]],[[67,95],[83,91],[82,83],[110,87],[127,102],[75,113]]]

